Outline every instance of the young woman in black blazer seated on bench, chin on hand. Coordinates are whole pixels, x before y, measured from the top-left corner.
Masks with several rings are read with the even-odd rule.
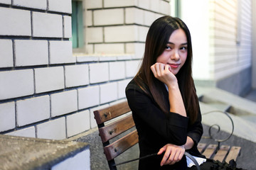
[[[192,78],[191,35],[179,18],[164,16],[146,36],[142,66],[126,95],[139,135],[139,169],[187,169],[188,152],[203,157],[197,145],[203,128]]]

